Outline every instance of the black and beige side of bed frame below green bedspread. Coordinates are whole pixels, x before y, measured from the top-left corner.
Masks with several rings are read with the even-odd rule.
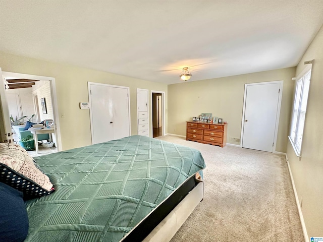
[[[204,184],[200,174],[196,173],[120,241],[170,241],[203,199],[203,195]]]

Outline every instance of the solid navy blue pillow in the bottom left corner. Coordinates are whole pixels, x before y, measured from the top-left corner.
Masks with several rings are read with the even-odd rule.
[[[22,192],[0,183],[0,241],[24,241],[28,215]]]

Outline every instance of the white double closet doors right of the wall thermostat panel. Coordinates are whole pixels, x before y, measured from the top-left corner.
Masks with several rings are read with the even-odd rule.
[[[130,135],[127,87],[89,84],[92,144]]]

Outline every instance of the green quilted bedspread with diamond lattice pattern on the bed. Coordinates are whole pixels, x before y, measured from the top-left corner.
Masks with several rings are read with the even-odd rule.
[[[188,177],[200,152],[143,136],[35,157],[56,192],[26,202],[25,241],[119,241]]]

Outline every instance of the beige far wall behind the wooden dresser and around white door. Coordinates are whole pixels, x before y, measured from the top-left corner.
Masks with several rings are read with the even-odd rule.
[[[212,113],[228,122],[227,142],[241,136],[241,121],[246,83],[283,80],[276,151],[286,152],[288,127],[293,97],[292,78],[295,68],[257,72],[239,76],[186,82],[168,86],[168,133],[186,135],[186,121],[202,112]]]

